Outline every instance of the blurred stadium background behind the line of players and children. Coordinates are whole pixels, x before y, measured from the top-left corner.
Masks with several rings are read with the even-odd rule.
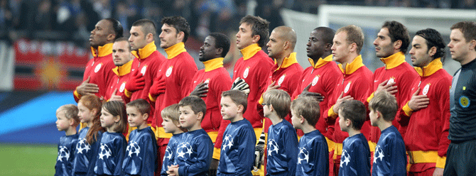
[[[116,18],[128,37],[131,24],[141,18],[160,30],[164,16],[185,17],[191,27],[185,48],[199,69],[203,39],[225,33],[232,41],[225,58],[230,74],[241,57],[234,35],[243,16],[265,18],[270,33],[277,26],[294,28],[304,68],[310,66],[305,43],[313,28],[355,24],[366,38],[364,64],[374,71],[383,65],[372,43],[384,21],[404,23],[411,38],[418,30],[435,28],[448,43],[450,26],[476,21],[475,9],[475,0],[0,0],[0,175],[54,174],[56,143],[64,135],[56,129],[55,111],[75,104],[72,91],[92,57],[90,31],[102,18]],[[453,75],[459,67],[447,54],[445,70]]]

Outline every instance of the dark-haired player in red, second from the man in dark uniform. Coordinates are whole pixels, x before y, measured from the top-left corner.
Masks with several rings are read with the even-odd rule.
[[[372,79],[373,86],[370,90],[370,94],[367,102],[374,97],[374,94],[386,89],[390,94],[394,94],[396,97],[396,102],[399,104],[399,109],[403,107],[406,102],[404,99],[411,96],[411,82],[413,82],[418,74],[415,72],[413,67],[405,61],[405,53],[409,48],[409,32],[406,30],[406,27],[399,23],[398,21],[386,21],[379,33],[377,38],[374,40],[375,51],[377,52],[377,57],[382,57],[380,60],[384,62],[384,67],[379,67],[375,70]],[[399,113],[396,114],[396,117],[393,121],[393,125],[399,129],[401,136],[405,136],[405,126],[401,127],[399,121]],[[369,141],[371,141],[370,151],[373,152],[375,145],[380,138],[380,130],[376,126],[370,128]]]

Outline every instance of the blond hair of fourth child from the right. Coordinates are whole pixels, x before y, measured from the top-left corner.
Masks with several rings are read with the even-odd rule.
[[[264,92],[263,103],[273,105],[279,118],[284,119],[289,114],[291,97],[287,92],[280,89],[272,89]]]

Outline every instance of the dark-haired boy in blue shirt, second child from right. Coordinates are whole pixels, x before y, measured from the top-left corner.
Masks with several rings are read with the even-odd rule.
[[[340,130],[349,133],[342,142],[339,176],[370,175],[370,148],[367,138],[360,133],[367,118],[362,101],[345,100],[339,105]]]

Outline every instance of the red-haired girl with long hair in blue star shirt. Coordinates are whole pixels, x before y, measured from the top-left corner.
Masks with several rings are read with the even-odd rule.
[[[77,116],[80,117],[82,123],[87,123],[87,126],[81,129],[76,145],[72,169],[74,175],[94,175],[93,169],[99,149],[98,140],[104,132],[99,121],[101,106],[101,100],[95,95],[83,96],[77,103],[79,110]]]

